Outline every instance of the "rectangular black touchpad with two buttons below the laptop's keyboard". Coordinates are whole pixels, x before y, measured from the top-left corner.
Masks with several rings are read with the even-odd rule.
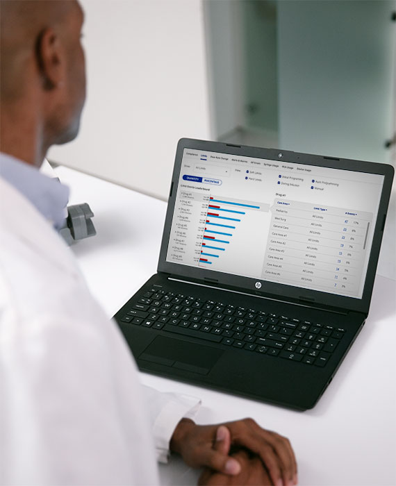
[[[223,351],[220,349],[203,344],[157,336],[138,356],[138,360],[151,361],[206,375],[222,353]]]

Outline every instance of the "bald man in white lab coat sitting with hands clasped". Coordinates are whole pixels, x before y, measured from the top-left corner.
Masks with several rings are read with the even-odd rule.
[[[202,484],[296,484],[288,439],[251,419],[197,426],[197,400],[138,383],[53,231],[67,188],[38,171],[79,131],[83,12],[75,0],[0,7],[0,483],[158,484],[155,455],[170,450],[206,468]]]

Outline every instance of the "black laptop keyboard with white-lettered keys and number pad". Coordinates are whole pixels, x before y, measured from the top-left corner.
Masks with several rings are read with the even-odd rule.
[[[122,322],[324,367],[345,329],[151,288]]]

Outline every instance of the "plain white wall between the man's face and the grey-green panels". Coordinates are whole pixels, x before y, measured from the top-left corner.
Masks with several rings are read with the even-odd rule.
[[[88,99],[49,159],[167,199],[176,143],[210,138],[200,0],[81,0]]]

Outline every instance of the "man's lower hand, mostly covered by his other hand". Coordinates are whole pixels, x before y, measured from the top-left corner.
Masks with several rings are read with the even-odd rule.
[[[267,469],[258,455],[251,455],[244,449],[232,455],[240,464],[240,473],[234,476],[230,474],[217,473],[211,469],[205,471],[199,476],[198,485],[200,486],[248,486],[262,485],[272,486]]]

